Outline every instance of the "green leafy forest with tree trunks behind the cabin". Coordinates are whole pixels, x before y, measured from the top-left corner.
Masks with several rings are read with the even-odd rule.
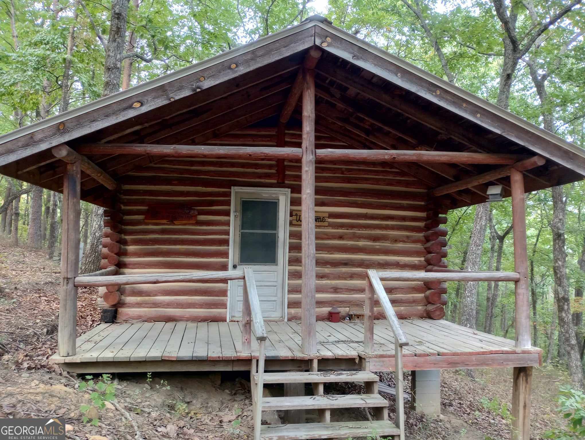
[[[0,0],[0,134],[313,13],[585,147],[581,0]],[[0,234],[59,251],[61,195],[0,175]],[[585,182],[526,196],[532,340],[583,385]],[[102,210],[82,202],[82,272]],[[511,203],[449,213],[449,266],[513,271]],[[514,339],[514,289],[449,283],[447,318]]]

